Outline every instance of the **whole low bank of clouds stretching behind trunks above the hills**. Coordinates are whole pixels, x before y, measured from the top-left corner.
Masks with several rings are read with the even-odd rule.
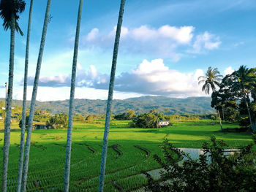
[[[143,60],[135,69],[116,77],[115,90],[176,97],[202,96],[203,93],[197,85],[197,78],[201,75],[203,75],[201,69],[188,74],[169,69],[165,66],[162,58],[152,61]],[[95,66],[90,66],[86,71],[78,65],[76,78],[78,88],[108,90],[109,75],[98,72]],[[40,86],[65,87],[69,84],[70,77],[64,75],[42,77],[39,80]],[[31,81],[29,81],[29,85],[31,85]]]

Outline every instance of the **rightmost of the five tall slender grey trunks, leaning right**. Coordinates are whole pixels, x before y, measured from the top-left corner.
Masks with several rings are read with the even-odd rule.
[[[113,88],[114,88],[114,81],[115,81],[115,74],[116,74],[116,60],[118,55],[118,46],[119,46],[119,39],[121,34],[121,24],[123,21],[124,15],[124,4],[125,0],[121,0],[120,10],[119,10],[119,17],[118,23],[116,27],[116,39],[115,45],[113,50],[113,59],[112,59],[112,68],[110,74],[110,83],[109,83],[109,90],[108,90],[108,104],[107,104],[107,112],[105,118],[105,131],[104,131],[104,138],[103,138],[103,147],[102,147],[102,159],[100,162],[100,173],[99,173],[99,188],[98,191],[103,191],[104,188],[104,177],[105,177],[105,166],[107,161],[107,150],[108,150],[108,133],[109,133],[109,126],[110,126],[110,115],[111,115],[111,104],[113,99]]]

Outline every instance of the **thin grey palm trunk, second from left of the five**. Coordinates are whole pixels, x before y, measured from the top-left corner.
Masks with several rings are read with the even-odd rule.
[[[24,156],[24,140],[25,140],[25,127],[26,127],[26,88],[28,82],[28,67],[29,67],[29,40],[31,31],[31,15],[32,15],[33,0],[30,1],[29,8],[29,25],[28,34],[26,37],[26,58],[25,58],[25,70],[24,70],[24,85],[23,85],[23,104],[22,104],[22,125],[20,134],[20,160],[18,167],[18,180],[17,180],[17,192],[20,192],[22,170],[23,170],[23,156]]]

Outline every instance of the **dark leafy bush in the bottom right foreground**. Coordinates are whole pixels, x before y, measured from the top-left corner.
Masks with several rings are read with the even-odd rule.
[[[253,139],[256,143],[255,135]],[[241,147],[234,155],[225,155],[224,147],[227,147],[225,142],[211,137],[211,143],[203,144],[203,155],[197,160],[165,139],[162,146],[165,159],[154,155],[164,171],[159,180],[146,173],[146,191],[255,191],[256,161],[252,144]],[[187,160],[180,164],[182,158]]]

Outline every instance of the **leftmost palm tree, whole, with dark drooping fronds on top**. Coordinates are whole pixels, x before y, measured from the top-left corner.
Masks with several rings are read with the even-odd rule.
[[[19,13],[23,12],[26,3],[22,0],[1,0],[0,16],[4,19],[4,30],[10,28],[10,65],[9,65],[9,83],[7,95],[6,118],[4,122],[4,155],[3,155],[3,173],[2,173],[2,191],[7,191],[7,169],[10,147],[10,124],[12,111],[12,85],[13,85],[13,69],[14,69],[14,53],[15,53],[15,30],[21,35],[23,32],[18,26]]]

